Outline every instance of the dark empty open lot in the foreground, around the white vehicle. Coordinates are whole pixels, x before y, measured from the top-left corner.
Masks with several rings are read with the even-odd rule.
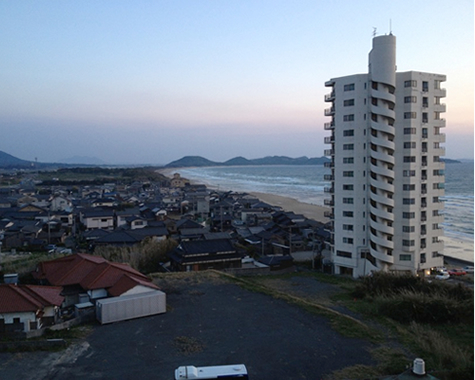
[[[324,317],[217,275],[159,283],[167,313],[96,324],[61,352],[1,353],[0,379],[170,380],[180,365],[243,363],[251,379],[313,380],[374,364],[367,341],[343,337]],[[318,289],[315,280],[294,283],[301,291]]]

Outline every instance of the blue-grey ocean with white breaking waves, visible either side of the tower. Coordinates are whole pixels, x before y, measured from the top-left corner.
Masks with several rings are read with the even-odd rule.
[[[182,177],[220,190],[260,192],[323,206],[328,198],[323,179],[329,169],[320,166],[230,166],[177,169]],[[473,162],[445,165],[444,235],[450,239],[452,257],[473,261]],[[464,245],[464,247],[462,247]],[[447,244],[446,244],[447,246]]]

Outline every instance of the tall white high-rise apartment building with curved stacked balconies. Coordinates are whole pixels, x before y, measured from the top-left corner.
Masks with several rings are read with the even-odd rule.
[[[423,273],[443,265],[445,79],[396,72],[390,34],[373,38],[367,74],[325,83],[335,273]]]

